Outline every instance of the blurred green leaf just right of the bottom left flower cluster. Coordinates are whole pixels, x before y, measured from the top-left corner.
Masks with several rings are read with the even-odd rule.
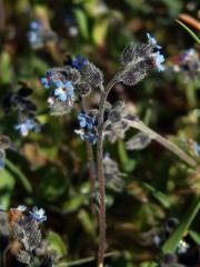
[[[54,249],[59,256],[67,256],[68,250],[62,238],[54,231],[49,231],[47,240],[50,243],[50,247]]]

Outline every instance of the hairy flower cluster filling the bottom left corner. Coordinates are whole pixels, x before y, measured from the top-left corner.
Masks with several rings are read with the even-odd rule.
[[[54,266],[58,255],[42,240],[40,230],[46,219],[44,210],[37,207],[30,211],[24,205],[10,208],[8,212],[0,209],[0,254],[4,254],[9,266]],[[14,249],[10,249],[13,245]]]

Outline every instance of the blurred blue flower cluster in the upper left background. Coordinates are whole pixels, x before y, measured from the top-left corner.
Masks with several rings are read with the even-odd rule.
[[[28,40],[33,49],[39,49],[48,42],[57,41],[57,36],[50,29],[44,28],[40,20],[33,20],[30,22]]]

